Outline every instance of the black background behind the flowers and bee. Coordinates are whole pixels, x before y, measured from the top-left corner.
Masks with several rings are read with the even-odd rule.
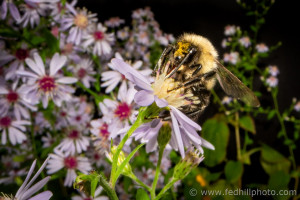
[[[226,25],[237,25],[242,30],[250,31],[249,26],[254,23],[254,19],[246,16],[245,11],[235,0],[82,0],[77,5],[86,7],[93,13],[98,13],[98,19],[102,23],[110,17],[119,16],[125,19],[128,25],[131,22],[133,10],[149,6],[163,32],[172,33],[175,37],[184,32],[203,35],[214,44],[220,58],[223,58],[225,52],[221,47],[221,41],[225,37],[224,27]],[[300,99],[300,31],[297,30],[300,19],[299,12],[300,10],[295,6],[295,3],[276,0],[266,16],[266,24],[263,25],[258,35],[258,42],[263,42],[269,47],[276,45],[279,41],[282,42],[279,49],[260,63],[261,67],[268,65],[279,67],[278,102],[281,111],[289,107],[293,97]],[[257,80],[259,80],[258,77]],[[265,104],[272,107],[270,94],[267,94],[266,90],[262,92],[269,96]],[[265,116],[259,117],[259,120],[256,121],[256,129],[257,135],[254,136],[254,140],[257,146],[260,146],[261,142],[267,143],[284,155],[289,155],[287,147],[283,146],[283,141],[276,137],[280,130],[276,118],[268,121]],[[292,134],[289,124],[287,124],[287,131]],[[232,137],[230,140],[234,142],[235,138]],[[228,155],[229,159],[234,159],[236,155],[234,143],[229,145],[228,151],[231,152]],[[295,155],[298,155],[299,152],[297,153],[297,151]],[[297,160],[297,156],[295,157]],[[247,172],[259,173],[260,176],[253,176],[253,174]],[[258,155],[252,157],[251,166],[245,166],[245,176],[246,183],[267,182],[268,176],[259,165]]]

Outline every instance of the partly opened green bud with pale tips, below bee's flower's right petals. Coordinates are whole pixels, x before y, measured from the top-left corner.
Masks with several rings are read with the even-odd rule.
[[[173,178],[182,180],[186,177],[193,168],[197,167],[204,159],[203,155],[200,155],[198,149],[193,147],[189,148],[185,154],[185,157],[180,160],[174,168]]]

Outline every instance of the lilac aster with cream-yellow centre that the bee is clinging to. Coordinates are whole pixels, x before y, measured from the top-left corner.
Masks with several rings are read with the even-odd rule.
[[[201,146],[214,149],[212,144],[197,134],[197,131],[200,131],[201,127],[177,109],[187,105],[190,101],[186,100],[187,96],[185,96],[180,89],[169,91],[169,86],[173,84],[173,79],[165,78],[168,66],[166,66],[166,71],[161,75],[157,74],[155,82],[150,84],[147,78],[122,60],[113,59],[112,63],[118,71],[124,74],[126,78],[132,81],[136,85],[136,88],[139,89],[134,96],[134,101],[138,105],[149,106],[153,102],[156,102],[158,107],[162,108],[167,106],[170,109],[173,130],[170,145],[175,150],[179,150],[182,157],[185,156],[184,147],[190,147],[191,145],[194,145],[200,152],[203,152]],[[148,123],[148,125],[151,126],[153,124]]]

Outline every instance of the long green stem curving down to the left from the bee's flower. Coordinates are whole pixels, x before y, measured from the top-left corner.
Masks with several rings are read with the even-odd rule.
[[[134,122],[134,124],[131,126],[131,128],[128,130],[122,141],[117,147],[116,153],[113,155],[113,162],[112,162],[112,167],[111,167],[111,175],[110,175],[110,180],[109,183],[111,184],[112,188],[115,187],[115,183],[117,180],[115,180],[116,172],[117,172],[117,163],[118,163],[118,158],[121,150],[123,149],[123,146],[125,145],[125,142],[128,140],[128,138],[132,135],[132,133],[141,125],[144,123],[144,107],[141,107],[139,110],[139,115]]]

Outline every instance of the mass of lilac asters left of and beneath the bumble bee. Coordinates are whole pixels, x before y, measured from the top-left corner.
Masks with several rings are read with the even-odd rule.
[[[164,123],[172,128],[172,137],[162,158],[163,174],[171,167],[172,149],[182,157],[191,146],[201,153],[202,146],[213,149],[198,135],[201,127],[178,109],[176,97],[157,93],[163,80],[151,76],[150,50],[163,49],[174,37],[160,30],[151,10],[133,11],[132,25],[127,26],[118,17],[98,22],[95,13],[76,8],[76,3],[4,0],[1,4],[1,27],[9,35],[0,38],[0,184],[26,175],[25,161],[37,157],[49,156],[43,168],[54,179],[63,179],[66,187],[72,186],[78,171],[87,174],[102,168],[108,173],[105,153],[111,142],[118,144],[138,109],[154,102],[171,110],[171,121],[143,124],[127,140],[125,152],[140,140],[147,143],[146,152],[157,157],[158,132]],[[185,102],[184,97],[179,100]],[[136,174],[150,184],[155,171],[143,167]],[[163,181],[159,179],[158,187]],[[101,191],[99,187],[95,193],[99,199]],[[125,194],[122,188],[117,191]],[[44,194],[47,199],[51,196]],[[86,198],[92,197],[83,193],[72,197]]]

